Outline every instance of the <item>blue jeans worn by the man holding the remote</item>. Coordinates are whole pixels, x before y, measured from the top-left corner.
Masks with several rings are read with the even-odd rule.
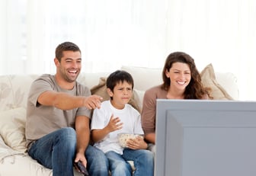
[[[72,176],[75,149],[75,130],[66,127],[38,139],[32,144],[28,154],[46,168],[53,169],[53,176]],[[104,152],[88,146],[85,156],[90,175],[108,176],[108,161]]]

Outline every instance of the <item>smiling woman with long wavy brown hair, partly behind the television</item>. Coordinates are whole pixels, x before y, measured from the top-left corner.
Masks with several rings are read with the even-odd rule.
[[[210,98],[210,88],[203,88],[194,59],[187,53],[174,52],[167,57],[162,79],[162,85],[145,92],[142,106],[142,128],[152,152],[155,152],[156,99]]]

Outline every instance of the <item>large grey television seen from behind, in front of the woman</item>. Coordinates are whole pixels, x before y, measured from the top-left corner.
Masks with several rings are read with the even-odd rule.
[[[256,102],[157,100],[155,176],[255,176]]]

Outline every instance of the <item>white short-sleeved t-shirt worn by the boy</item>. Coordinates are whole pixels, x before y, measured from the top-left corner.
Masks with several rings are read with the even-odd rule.
[[[123,147],[121,147],[118,142],[117,134],[143,134],[141,117],[138,110],[134,109],[130,104],[126,104],[122,110],[118,110],[112,106],[110,101],[104,101],[101,103],[100,109],[94,109],[91,120],[91,130],[101,130],[107,126],[112,114],[114,114],[114,117],[120,118],[120,121],[123,123],[123,128],[110,132],[104,139],[94,143],[94,146],[101,149],[104,153],[114,151],[122,155]]]

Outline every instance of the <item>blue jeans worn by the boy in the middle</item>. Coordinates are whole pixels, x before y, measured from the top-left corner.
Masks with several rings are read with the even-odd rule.
[[[123,155],[117,152],[106,152],[105,154],[110,162],[110,171],[112,176],[130,176],[132,168],[126,161],[133,161],[136,170],[134,176],[154,175],[154,154],[146,149],[123,149]]]

